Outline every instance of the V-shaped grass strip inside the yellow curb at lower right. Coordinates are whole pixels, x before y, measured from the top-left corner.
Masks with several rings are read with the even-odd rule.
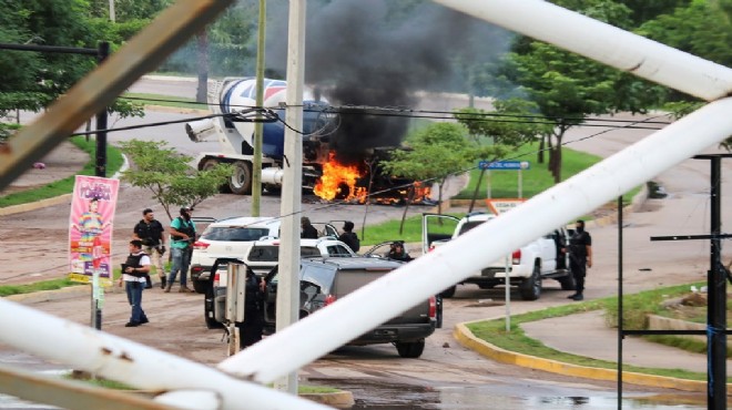
[[[681,286],[673,286],[662,289],[643,291],[637,295],[629,295],[623,297],[623,324],[626,324],[624,328],[644,329],[644,327],[631,327],[640,321],[643,321],[644,324],[644,320],[640,320],[640,315],[634,315],[636,309],[640,309],[642,311],[653,311],[657,309],[659,301],[668,297],[682,295],[688,291],[689,291],[689,285],[681,285]],[[553,317],[562,317],[562,316],[580,314],[591,310],[599,310],[599,309],[604,309],[606,316],[610,318],[610,321],[612,321],[613,320],[612,318],[614,318],[617,322],[617,307],[618,307],[618,298],[610,297],[604,299],[584,301],[580,304],[551,307],[548,309],[512,316],[509,332],[506,331],[506,321],[504,319],[486,320],[486,321],[469,324],[468,329],[470,329],[470,331],[472,331],[472,334],[476,337],[506,350],[541,357],[550,360],[562,361],[572,365],[578,365],[578,366],[617,369],[617,363],[614,362],[597,360],[592,358],[587,358],[582,356],[577,356],[577,355],[571,355],[555,350],[550,347],[545,346],[543,344],[541,344],[536,339],[529,338],[521,329],[521,324],[525,322],[542,320]],[[624,320],[626,318],[628,318],[628,320]],[[639,373],[647,373],[647,375],[673,377],[679,379],[706,380],[706,373],[698,373],[682,369],[651,369],[651,368],[623,365],[623,370],[639,372]],[[732,379],[728,379],[728,382],[730,380]]]

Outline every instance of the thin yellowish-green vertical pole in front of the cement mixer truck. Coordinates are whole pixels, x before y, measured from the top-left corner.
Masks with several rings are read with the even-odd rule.
[[[256,44],[256,106],[264,104],[264,39],[267,20],[267,2],[260,0],[260,29]],[[252,163],[252,216],[260,216],[262,203],[262,134],[264,123],[261,113],[256,114],[254,123],[254,162]]]

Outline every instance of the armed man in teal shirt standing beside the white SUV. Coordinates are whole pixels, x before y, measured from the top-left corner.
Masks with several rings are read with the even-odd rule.
[[[191,265],[191,249],[195,240],[195,224],[191,221],[193,208],[184,206],[181,216],[171,223],[171,273],[167,276],[165,293],[171,291],[175,276],[181,273],[180,293],[192,293],[187,287],[189,265]]]

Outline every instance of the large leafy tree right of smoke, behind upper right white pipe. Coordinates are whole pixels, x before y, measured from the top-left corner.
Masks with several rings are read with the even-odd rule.
[[[630,10],[624,6],[607,0],[580,3],[581,11],[590,17],[619,27],[629,24]],[[561,148],[569,129],[582,124],[589,115],[643,113],[660,103],[665,93],[665,89],[620,70],[527,38],[516,42],[496,74],[498,95],[525,95],[553,122],[543,137],[548,168],[557,183],[561,181]]]

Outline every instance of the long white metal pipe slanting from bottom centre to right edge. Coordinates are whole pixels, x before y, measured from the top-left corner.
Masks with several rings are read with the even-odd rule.
[[[308,363],[500,259],[596,209],[732,133],[732,98],[698,110],[545,191],[520,206],[405,264],[394,273],[278,330],[221,362],[260,382]],[[662,150],[659,147],[663,147]],[[368,306],[368,309],[364,307]],[[296,342],[293,342],[296,340]]]

